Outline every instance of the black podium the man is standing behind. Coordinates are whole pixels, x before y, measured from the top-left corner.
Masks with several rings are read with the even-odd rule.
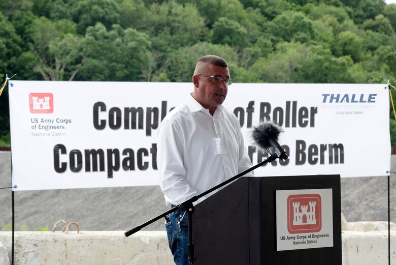
[[[323,205],[331,207],[322,212],[332,211],[333,220],[323,219],[323,222],[332,221],[332,234],[321,234],[315,228],[314,232],[303,233],[291,230],[297,235],[296,239],[289,240],[291,245],[303,249],[279,250],[277,241],[288,237],[277,235],[277,194],[294,190],[300,193],[301,190],[302,193],[305,190],[306,193],[330,191],[330,201]],[[300,208],[300,205],[296,207]],[[340,175],[242,177],[197,204],[193,216],[195,265],[342,264]],[[304,218],[307,222],[307,217]],[[291,225],[292,222],[288,227]],[[296,224],[294,227],[303,226]],[[325,240],[318,239],[319,236],[329,237],[332,246],[312,248],[311,244],[311,248],[305,248],[310,243]]]

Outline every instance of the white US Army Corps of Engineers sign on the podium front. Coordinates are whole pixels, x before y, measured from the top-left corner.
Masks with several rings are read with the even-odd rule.
[[[333,190],[277,190],[277,251],[333,247]]]

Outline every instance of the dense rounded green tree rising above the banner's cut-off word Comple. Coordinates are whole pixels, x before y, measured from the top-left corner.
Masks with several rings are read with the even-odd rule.
[[[142,69],[147,64],[150,45],[148,36],[133,28],[123,30],[120,25],[113,25],[107,31],[101,23],[90,26],[83,40],[87,59],[78,79],[143,80]]]

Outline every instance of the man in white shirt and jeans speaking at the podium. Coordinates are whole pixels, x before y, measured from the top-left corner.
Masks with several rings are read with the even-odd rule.
[[[232,111],[222,106],[232,81],[228,65],[221,57],[201,57],[192,76],[192,93],[161,122],[157,164],[168,207],[252,166],[239,121]],[[187,265],[187,215],[184,210],[177,210],[167,218],[174,261],[176,265]]]

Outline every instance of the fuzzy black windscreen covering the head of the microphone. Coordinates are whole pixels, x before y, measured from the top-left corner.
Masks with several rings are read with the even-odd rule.
[[[260,122],[257,126],[253,127],[251,136],[259,148],[268,150],[271,147],[269,138],[272,136],[278,140],[279,134],[282,132],[282,127],[275,122]]]

